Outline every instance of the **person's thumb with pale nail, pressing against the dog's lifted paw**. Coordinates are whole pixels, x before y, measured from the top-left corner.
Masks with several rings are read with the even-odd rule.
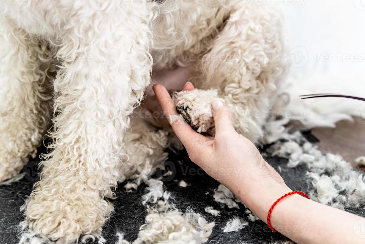
[[[235,131],[231,111],[222,100],[217,98],[212,101],[212,113],[216,135]]]

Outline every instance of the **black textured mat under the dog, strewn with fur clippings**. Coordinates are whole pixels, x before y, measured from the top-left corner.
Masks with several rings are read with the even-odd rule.
[[[183,159],[183,160],[182,160]],[[266,160],[283,176],[287,185],[293,190],[307,192],[310,187],[304,180],[306,165],[298,165],[296,168],[288,169],[288,161],[284,158],[270,157]],[[38,180],[36,174],[37,160],[31,161],[23,169],[26,176],[19,182],[7,186],[0,186],[0,244],[16,244],[19,230],[16,225],[24,219],[20,207],[24,204],[26,196],[30,194],[32,185]],[[193,208],[197,213],[204,215],[208,222],[215,221],[216,225],[207,243],[238,244],[238,243],[272,243],[273,241],[287,240],[280,233],[271,233],[268,226],[262,221],[249,222],[246,228],[238,232],[223,233],[222,228],[232,217],[238,216],[247,220],[247,214],[243,204],[240,209],[228,209],[215,202],[213,198],[214,189],[219,185],[217,181],[205,174],[198,166],[187,159],[187,154],[181,152],[177,157],[170,153],[166,161],[166,169],[173,170],[173,174],[163,179],[166,189],[172,192],[172,202],[181,211],[188,207]],[[164,172],[158,171],[157,176]],[[178,185],[180,180],[188,183],[183,188]],[[116,232],[124,233],[124,238],[133,241],[137,238],[139,227],[144,223],[146,207],[142,205],[142,195],[145,194],[146,185],[141,185],[138,190],[126,192],[124,183],[119,184],[116,190],[117,198],[111,200],[115,206],[115,212],[103,227],[103,237],[106,244],[114,244],[118,237]],[[204,209],[212,206],[220,210],[220,216],[212,216],[205,213]],[[362,217],[365,217],[363,210],[348,210]],[[97,241],[95,241],[97,243]]]

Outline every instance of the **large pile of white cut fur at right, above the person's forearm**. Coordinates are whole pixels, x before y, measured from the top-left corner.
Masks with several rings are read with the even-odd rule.
[[[354,169],[340,155],[323,154],[299,132],[284,134],[282,139],[269,151],[272,155],[288,158],[289,167],[300,163],[308,166],[305,173],[312,184],[309,192],[312,200],[339,209],[365,208],[365,177],[362,172]]]

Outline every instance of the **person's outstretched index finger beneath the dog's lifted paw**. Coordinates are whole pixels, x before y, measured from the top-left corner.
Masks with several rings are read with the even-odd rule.
[[[185,148],[195,148],[197,144],[208,141],[205,136],[194,131],[181,116],[178,115],[175,103],[172,101],[170,94],[162,85],[154,85],[153,91],[156,94],[158,102],[160,102],[162,110],[164,110],[166,117],[171,123],[171,126],[177,137],[184,144]]]

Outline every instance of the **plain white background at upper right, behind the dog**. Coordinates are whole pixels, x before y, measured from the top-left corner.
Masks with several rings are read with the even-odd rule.
[[[365,80],[365,0],[268,1],[283,7],[289,57],[299,55],[291,62],[291,75],[342,79],[335,89],[340,93],[341,87]]]

